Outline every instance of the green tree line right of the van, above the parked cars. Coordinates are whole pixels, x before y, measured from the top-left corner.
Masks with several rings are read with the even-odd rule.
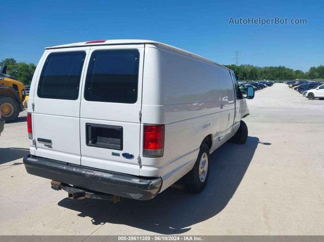
[[[324,66],[311,67],[307,72],[284,66],[257,67],[252,65],[224,65],[232,69],[238,80],[293,80],[324,78]]]

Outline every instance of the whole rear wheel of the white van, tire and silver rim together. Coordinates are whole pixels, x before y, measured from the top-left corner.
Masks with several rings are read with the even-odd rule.
[[[195,165],[184,176],[184,189],[193,193],[200,193],[205,188],[210,170],[210,154],[206,143],[200,145],[200,151]]]

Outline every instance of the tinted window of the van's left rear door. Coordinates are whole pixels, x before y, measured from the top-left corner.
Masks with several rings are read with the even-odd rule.
[[[76,100],[86,52],[56,52],[46,58],[38,83],[40,98]]]

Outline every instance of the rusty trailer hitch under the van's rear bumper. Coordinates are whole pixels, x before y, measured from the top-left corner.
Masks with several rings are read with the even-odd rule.
[[[68,198],[70,199],[84,199],[84,198],[91,198],[91,199],[103,199],[113,201],[117,203],[121,201],[121,196],[116,196],[107,193],[95,192],[90,191],[84,188],[77,188],[70,186],[69,184],[61,183],[58,181],[51,181],[51,188],[55,191],[64,190],[68,193]]]

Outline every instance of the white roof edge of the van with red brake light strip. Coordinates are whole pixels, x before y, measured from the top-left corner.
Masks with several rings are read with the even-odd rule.
[[[216,65],[219,65],[221,67],[224,67],[228,70],[230,70],[229,68],[218,64],[212,60],[209,60],[207,58],[204,58],[202,56],[196,55],[194,53],[191,53],[189,51],[171,46],[171,45],[167,45],[167,44],[163,44],[154,40],[146,40],[146,39],[108,39],[108,40],[94,40],[94,41],[87,41],[87,42],[78,42],[78,43],[72,43],[72,44],[66,44],[66,45],[57,45],[57,46],[52,46],[52,47],[46,47],[45,49],[57,49],[57,48],[68,48],[68,47],[81,47],[81,46],[94,46],[94,45],[122,45],[122,44],[155,44],[155,45],[160,45],[163,47],[167,47],[185,54],[189,54],[191,56],[195,56],[198,58],[202,58],[204,60],[207,60],[209,62],[212,62]]]

